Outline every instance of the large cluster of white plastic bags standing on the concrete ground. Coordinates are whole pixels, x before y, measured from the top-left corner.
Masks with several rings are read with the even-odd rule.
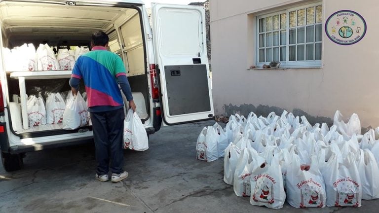
[[[280,209],[287,200],[296,208],[360,207],[362,199],[379,198],[379,128],[362,135],[356,114],[345,123],[337,111],[330,128],[287,111],[231,116],[225,129],[202,130],[197,158],[216,159],[222,135],[229,142],[224,181],[252,205]]]

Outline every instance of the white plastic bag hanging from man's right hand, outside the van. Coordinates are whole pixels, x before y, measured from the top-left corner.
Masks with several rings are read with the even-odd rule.
[[[148,134],[137,112],[129,109],[124,120],[124,149],[145,151],[149,148]]]

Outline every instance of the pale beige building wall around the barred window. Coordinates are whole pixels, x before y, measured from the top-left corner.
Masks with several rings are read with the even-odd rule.
[[[304,0],[211,0],[213,99],[216,115],[225,105],[267,105],[311,116],[344,117],[355,112],[362,127],[379,126],[379,4],[375,0],[323,0],[325,20],[334,12],[358,12],[367,23],[365,37],[342,46],[323,32],[321,69],[247,70],[255,64],[255,15]],[[364,2],[364,3],[363,3]]]

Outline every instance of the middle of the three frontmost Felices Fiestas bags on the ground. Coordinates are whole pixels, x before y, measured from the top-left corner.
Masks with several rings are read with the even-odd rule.
[[[306,169],[308,169],[306,171]],[[317,167],[317,157],[311,157],[310,167],[300,164],[293,154],[287,169],[287,201],[295,208],[323,208],[326,203],[325,183]]]

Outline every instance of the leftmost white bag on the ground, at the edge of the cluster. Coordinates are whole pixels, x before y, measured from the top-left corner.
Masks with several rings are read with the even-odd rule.
[[[213,126],[204,127],[196,142],[196,158],[207,162],[219,159],[218,134]]]

